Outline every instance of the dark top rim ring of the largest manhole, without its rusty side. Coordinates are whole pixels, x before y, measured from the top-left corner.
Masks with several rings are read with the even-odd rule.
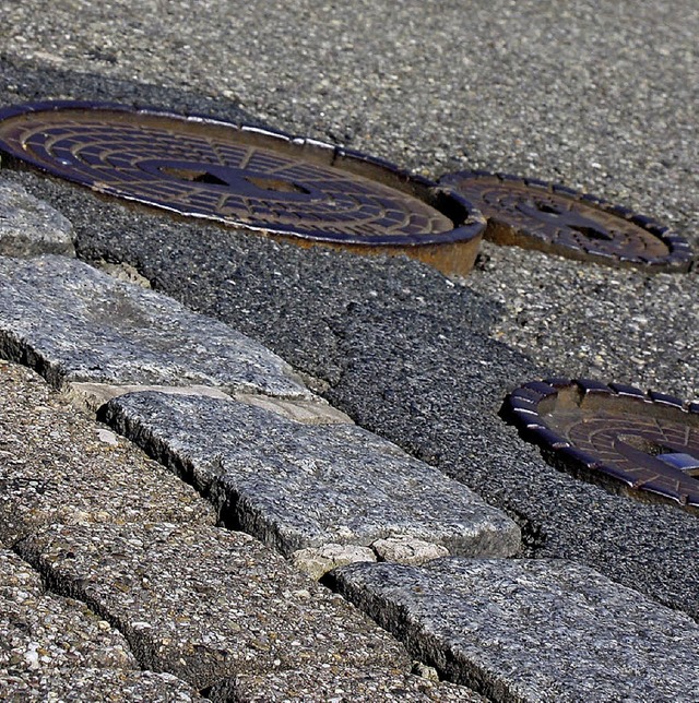
[[[391,164],[390,162],[356,152],[354,150],[345,148],[320,142],[318,140],[295,136],[282,131],[270,130],[246,123],[234,123],[213,118],[204,115],[188,114],[178,115],[167,109],[159,109],[154,107],[132,107],[129,105],[118,103],[96,103],[85,100],[45,100],[24,105],[14,105],[0,108],[0,127],[2,122],[7,122],[13,118],[29,117],[40,115],[42,112],[56,115],[59,111],[70,112],[95,112],[105,111],[118,114],[120,116],[133,116],[134,126],[138,127],[139,118],[146,119],[162,119],[177,124],[186,124],[188,129],[213,129],[213,130],[229,130],[230,134],[242,135],[251,141],[265,142],[265,144],[258,144],[262,150],[274,151],[274,145],[277,147],[284,146],[287,151],[296,152],[298,160],[313,163],[308,158],[309,155],[322,155],[324,159],[331,159],[330,164],[324,166],[333,170],[343,170],[348,175],[359,176],[366,181],[374,181],[383,188],[398,191],[402,194],[407,194],[410,198],[422,201],[424,205],[436,211],[446,219],[450,221],[453,228],[443,233],[431,234],[386,234],[386,235],[371,235],[358,237],[352,234],[341,233],[319,233],[313,230],[304,230],[299,227],[294,227],[284,224],[270,224],[270,223],[254,223],[245,219],[237,221],[235,218],[223,219],[216,215],[205,213],[191,213],[186,208],[178,208],[176,206],[168,206],[158,203],[156,199],[143,198],[141,195],[133,195],[129,193],[115,192],[107,183],[95,183],[91,179],[80,177],[75,172],[70,171],[68,168],[61,168],[58,162],[47,164],[46,162],[32,156],[25,151],[15,148],[12,144],[8,144],[4,139],[0,138],[0,152],[9,155],[13,159],[23,163],[28,163],[33,167],[48,172],[74,183],[87,187],[97,193],[104,193],[122,200],[149,205],[158,210],[169,211],[177,215],[187,217],[198,217],[211,221],[218,224],[224,224],[230,227],[239,227],[248,230],[263,231],[264,234],[280,235],[283,237],[298,238],[308,240],[309,243],[329,243],[341,246],[359,246],[359,247],[378,247],[391,248],[401,247],[410,249],[417,249],[420,247],[442,246],[442,245],[460,245],[471,241],[479,241],[479,237],[485,229],[485,218],[481,213],[472,206],[472,204],[459,193],[452,192],[450,189],[440,187],[438,183],[430,181],[419,175],[411,174],[407,170]],[[266,142],[270,145],[266,145]],[[247,142],[244,142],[247,143]],[[304,151],[306,150],[306,158],[304,158]],[[372,179],[366,174],[376,174],[382,180]],[[390,182],[387,182],[390,181]],[[415,191],[415,192],[411,192]],[[475,254],[474,254],[475,255]]]

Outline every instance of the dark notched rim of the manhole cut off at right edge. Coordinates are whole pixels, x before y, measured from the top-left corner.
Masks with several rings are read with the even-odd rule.
[[[627,495],[641,501],[671,502],[699,514],[699,474],[695,478],[682,468],[663,462],[662,479],[676,481],[676,489],[653,485],[654,477],[651,476],[653,469],[638,466],[639,476],[633,476],[612,462],[600,458],[593,452],[576,446],[560,431],[552,428],[552,424],[544,415],[547,409],[553,410],[559,392],[579,394],[579,406],[585,398],[595,401],[609,398],[619,404],[626,403],[627,407],[636,408],[637,412],[641,410],[637,414],[626,413],[630,416],[655,417],[656,413],[661,419],[684,426],[692,421],[692,418],[697,418],[698,430],[699,402],[685,402],[656,391],[643,392],[641,389],[624,383],[606,384],[592,379],[549,378],[543,381],[530,381],[519,386],[505,398],[500,409],[500,416],[517,427],[522,439],[536,444],[548,463],[555,467],[588,482],[601,484],[615,493]],[[631,428],[627,433],[633,431],[638,432],[638,428]],[[697,463],[699,464],[699,457]]]

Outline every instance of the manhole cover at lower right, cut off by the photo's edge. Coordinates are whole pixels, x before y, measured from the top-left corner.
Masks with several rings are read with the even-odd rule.
[[[502,416],[557,467],[645,500],[699,508],[699,403],[590,380],[525,383]]]

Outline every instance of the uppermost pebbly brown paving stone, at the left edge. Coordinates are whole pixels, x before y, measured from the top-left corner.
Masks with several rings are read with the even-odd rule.
[[[34,371],[0,362],[0,539],[57,523],[214,524],[215,511]]]

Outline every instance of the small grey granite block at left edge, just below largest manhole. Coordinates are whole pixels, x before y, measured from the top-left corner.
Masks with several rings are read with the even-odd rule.
[[[24,188],[0,181],[0,257],[75,255],[73,226]]]

